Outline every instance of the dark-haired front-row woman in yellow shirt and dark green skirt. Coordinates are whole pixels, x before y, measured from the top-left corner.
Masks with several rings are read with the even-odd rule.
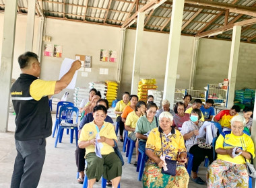
[[[97,105],[93,109],[94,121],[86,124],[81,131],[78,146],[86,148],[88,187],[92,188],[95,181],[104,177],[112,181],[113,187],[118,187],[122,175],[122,163],[114,151],[117,136],[113,124],[104,122],[106,118],[106,107]],[[102,143],[100,154],[102,158],[96,156],[96,134],[100,136],[97,142]],[[114,141],[115,140],[115,141]]]

